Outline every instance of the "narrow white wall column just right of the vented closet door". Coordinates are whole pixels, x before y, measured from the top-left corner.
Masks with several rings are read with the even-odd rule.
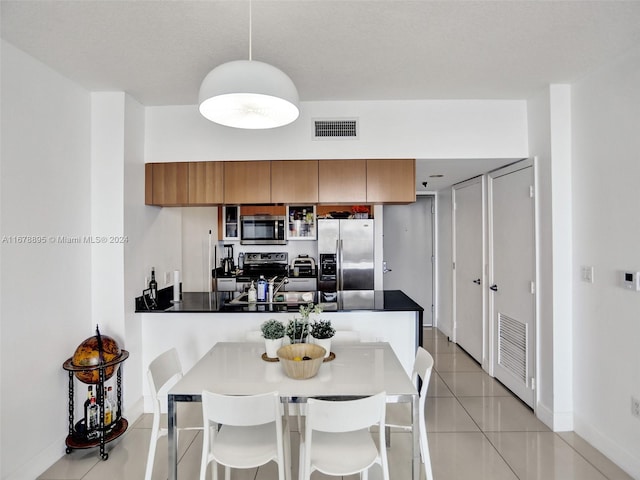
[[[536,411],[556,431],[573,429],[570,95],[568,85],[551,85],[528,108],[537,186]]]

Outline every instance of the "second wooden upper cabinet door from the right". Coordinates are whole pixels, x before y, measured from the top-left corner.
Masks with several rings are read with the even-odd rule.
[[[367,201],[366,160],[319,160],[318,201],[349,203]]]

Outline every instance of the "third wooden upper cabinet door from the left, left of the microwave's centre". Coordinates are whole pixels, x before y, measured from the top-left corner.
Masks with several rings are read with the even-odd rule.
[[[271,203],[271,162],[224,162],[224,203]]]

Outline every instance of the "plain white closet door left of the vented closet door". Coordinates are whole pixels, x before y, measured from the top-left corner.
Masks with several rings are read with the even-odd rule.
[[[484,345],[483,181],[453,187],[454,341],[482,364]]]

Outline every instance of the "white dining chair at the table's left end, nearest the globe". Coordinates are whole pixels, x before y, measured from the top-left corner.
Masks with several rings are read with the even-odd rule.
[[[153,401],[153,424],[151,427],[151,440],[149,442],[149,453],[147,454],[147,466],[144,474],[145,480],[151,480],[153,473],[153,463],[156,456],[158,439],[167,435],[168,430],[164,425],[161,401],[175,383],[182,378],[182,366],[180,358],[175,348],[167,350],[155,358],[147,369],[147,381],[151,391]],[[202,427],[182,427],[184,430],[202,430]]]

